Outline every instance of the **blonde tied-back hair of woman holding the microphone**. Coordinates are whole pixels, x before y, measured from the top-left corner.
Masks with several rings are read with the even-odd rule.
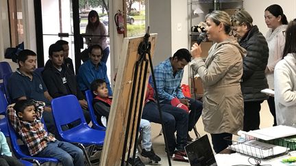
[[[211,13],[206,15],[206,19],[208,18],[211,19],[212,22],[214,22],[216,25],[223,23],[225,33],[226,34],[230,33],[231,31],[230,16],[226,12],[223,12],[220,10],[214,10]]]

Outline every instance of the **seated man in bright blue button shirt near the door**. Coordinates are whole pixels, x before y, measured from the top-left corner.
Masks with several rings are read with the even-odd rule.
[[[102,48],[99,45],[93,45],[90,47],[89,57],[90,59],[79,68],[77,75],[77,82],[79,89],[84,92],[90,89],[90,83],[95,79],[103,79],[108,87],[108,95],[112,96],[112,89],[107,76],[107,66],[101,61]]]

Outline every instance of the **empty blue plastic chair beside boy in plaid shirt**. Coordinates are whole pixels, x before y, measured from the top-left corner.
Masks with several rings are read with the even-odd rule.
[[[86,123],[82,107],[76,96],[70,94],[61,96],[51,100],[51,109],[53,120],[55,121],[58,131],[58,137],[62,141],[70,143],[82,143],[83,146],[88,146],[89,150],[84,154],[86,161],[90,164],[89,156],[93,153],[95,146],[101,148],[105,139],[104,130],[96,130],[90,128]],[[72,128],[65,129],[64,126],[75,124]]]

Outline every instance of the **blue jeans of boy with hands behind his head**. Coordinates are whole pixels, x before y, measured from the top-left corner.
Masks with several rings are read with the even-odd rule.
[[[57,158],[64,166],[84,165],[82,150],[64,141],[48,142],[47,148],[36,154],[36,156]]]

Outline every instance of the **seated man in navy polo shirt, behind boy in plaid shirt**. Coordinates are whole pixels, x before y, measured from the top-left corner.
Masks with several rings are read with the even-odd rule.
[[[8,80],[8,92],[12,102],[25,99],[33,99],[45,102],[43,118],[50,133],[56,133],[53,117],[51,115],[51,96],[36,69],[36,53],[31,50],[23,50],[18,54],[18,66]]]

